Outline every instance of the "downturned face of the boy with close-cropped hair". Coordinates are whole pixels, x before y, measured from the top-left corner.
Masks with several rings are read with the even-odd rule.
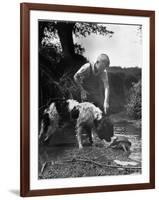
[[[108,61],[101,56],[98,56],[97,61],[94,65],[95,74],[98,75],[109,67]]]

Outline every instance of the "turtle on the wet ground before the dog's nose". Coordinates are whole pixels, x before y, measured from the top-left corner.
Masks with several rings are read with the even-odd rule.
[[[130,151],[131,142],[126,136],[116,136],[114,137],[112,143],[109,145],[109,148],[113,149],[123,149],[125,152]]]

